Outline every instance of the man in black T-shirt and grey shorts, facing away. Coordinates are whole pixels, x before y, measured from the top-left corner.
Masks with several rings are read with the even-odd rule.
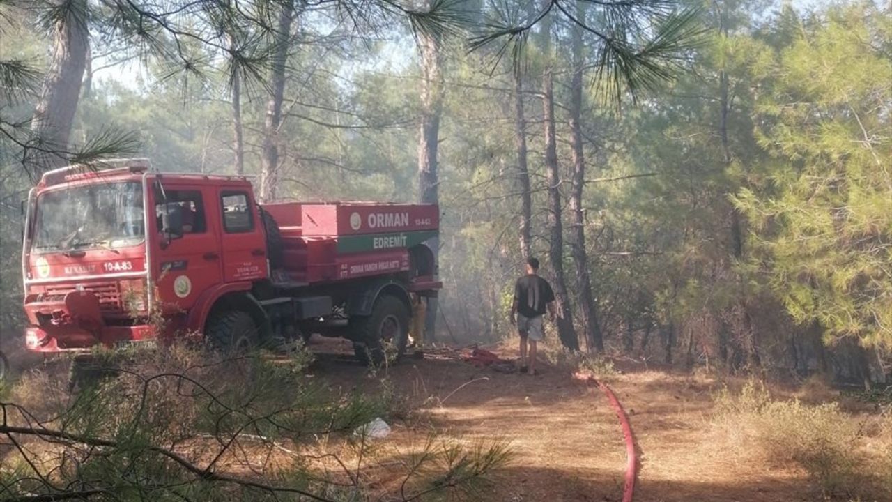
[[[536,374],[536,342],[542,339],[542,315],[546,308],[549,321],[555,320],[555,294],[547,280],[538,275],[539,260],[531,257],[526,261],[526,275],[517,280],[514,286],[514,303],[511,305],[511,323],[516,324],[520,334],[520,372]],[[526,346],[530,345],[529,368],[527,368]]]

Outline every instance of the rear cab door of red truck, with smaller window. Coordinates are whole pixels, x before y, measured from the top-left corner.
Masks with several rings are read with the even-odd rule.
[[[218,197],[223,280],[267,277],[266,238],[251,193],[246,188],[221,188]]]

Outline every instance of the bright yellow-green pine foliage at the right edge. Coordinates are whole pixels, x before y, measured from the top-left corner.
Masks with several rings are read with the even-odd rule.
[[[828,342],[892,347],[892,48],[870,3],[806,22],[765,69],[758,139],[772,175],[736,202],[755,258]]]

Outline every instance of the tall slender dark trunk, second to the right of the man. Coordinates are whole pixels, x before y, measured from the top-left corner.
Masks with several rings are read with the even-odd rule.
[[[576,3],[576,19],[584,22],[585,9],[582,2]],[[585,151],[582,146],[582,29],[573,29],[573,78],[570,83],[570,143],[573,149],[573,186],[570,192],[570,212],[573,215],[573,230],[570,243],[576,267],[576,280],[579,288],[582,327],[585,330],[586,347],[604,352],[604,339],[598,321],[598,306],[591,293],[589,276],[589,256],[585,250],[585,215],[582,213],[582,190],[585,188]]]

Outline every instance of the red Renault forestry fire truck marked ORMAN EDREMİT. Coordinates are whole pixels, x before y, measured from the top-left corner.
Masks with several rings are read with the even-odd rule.
[[[105,164],[46,172],[29,193],[29,350],[319,333],[380,362],[404,351],[413,301],[441,288],[436,205],[258,205],[244,178]]]

